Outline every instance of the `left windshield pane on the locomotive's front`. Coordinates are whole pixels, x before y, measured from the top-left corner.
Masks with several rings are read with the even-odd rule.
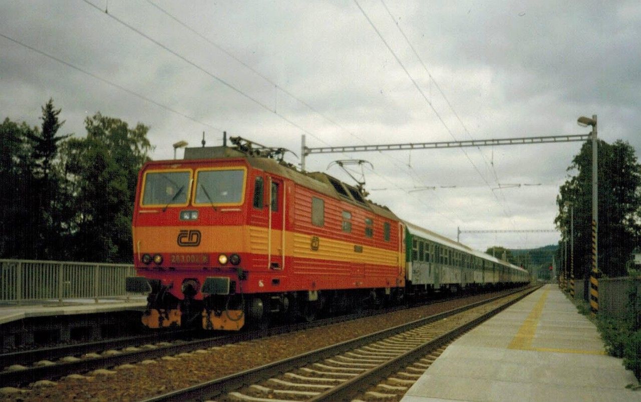
[[[187,205],[189,176],[189,171],[146,172],[142,205]]]

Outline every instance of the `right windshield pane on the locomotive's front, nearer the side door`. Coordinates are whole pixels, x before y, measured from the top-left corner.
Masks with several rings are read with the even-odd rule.
[[[244,187],[245,169],[198,171],[194,204],[240,205]]]

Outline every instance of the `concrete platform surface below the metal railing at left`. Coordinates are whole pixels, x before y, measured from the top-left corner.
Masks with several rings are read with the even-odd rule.
[[[26,302],[21,305],[0,304],[0,324],[31,317],[51,315],[74,315],[115,312],[122,310],[144,310],[147,296],[101,297],[99,299],[63,299]]]

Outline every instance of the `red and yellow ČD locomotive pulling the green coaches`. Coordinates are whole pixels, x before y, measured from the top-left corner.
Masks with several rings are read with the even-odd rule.
[[[138,177],[133,251],[150,328],[239,330],[402,294],[404,225],[356,187],[274,159],[282,149],[185,149]]]

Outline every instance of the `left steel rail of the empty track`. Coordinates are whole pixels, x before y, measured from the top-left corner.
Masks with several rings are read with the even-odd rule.
[[[519,297],[519,299],[527,296],[528,294],[530,294],[531,292],[534,292],[537,289],[538,287],[532,287],[531,289],[528,289],[528,291],[523,296]],[[230,374],[228,376],[217,378],[215,380],[206,381],[204,383],[193,385],[192,387],[175,390],[172,392],[168,392],[167,394],[162,394],[160,396],[155,396],[153,398],[144,399],[144,401],[142,402],[160,402],[160,401],[178,402],[178,401],[186,401],[186,400],[192,401],[192,400],[204,400],[204,399],[217,398],[221,395],[228,394],[229,392],[233,392],[233,390],[240,389],[247,384],[257,383],[263,380],[267,380],[278,374],[282,374],[292,369],[296,369],[297,367],[318,362],[320,360],[329,358],[331,356],[335,356],[345,351],[359,348],[360,346],[367,345],[372,342],[376,342],[377,340],[380,340],[380,339],[385,339],[397,333],[402,333],[404,331],[412,330],[413,328],[417,328],[419,326],[429,324],[430,322],[439,321],[451,315],[458,314],[465,310],[469,310],[470,308],[491,303],[492,301],[495,301],[497,299],[501,299],[503,297],[510,296],[510,294],[514,294],[522,291],[523,289],[518,289],[508,294],[491,297],[490,299],[478,301],[476,303],[471,303],[470,305],[454,308],[453,310],[448,310],[447,312],[431,315],[429,317],[424,317],[422,319],[408,322],[406,324],[394,326],[386,330],[377,331],[374,333],[370,333],[368,335],[363,335],[362,337],[346,340],[338,344],[334,344],[334,345],[326,346],[324,348],[316,349],[314,351],[302,353],[301,355],[279,360],[278,362],[272,362],[269,364],[262,365],[260,367],[254,367],[253,369],[247,369],[245,371],[241,371],[240,373]],[[327,400],[335,401],[338,399],[330,398]]]

